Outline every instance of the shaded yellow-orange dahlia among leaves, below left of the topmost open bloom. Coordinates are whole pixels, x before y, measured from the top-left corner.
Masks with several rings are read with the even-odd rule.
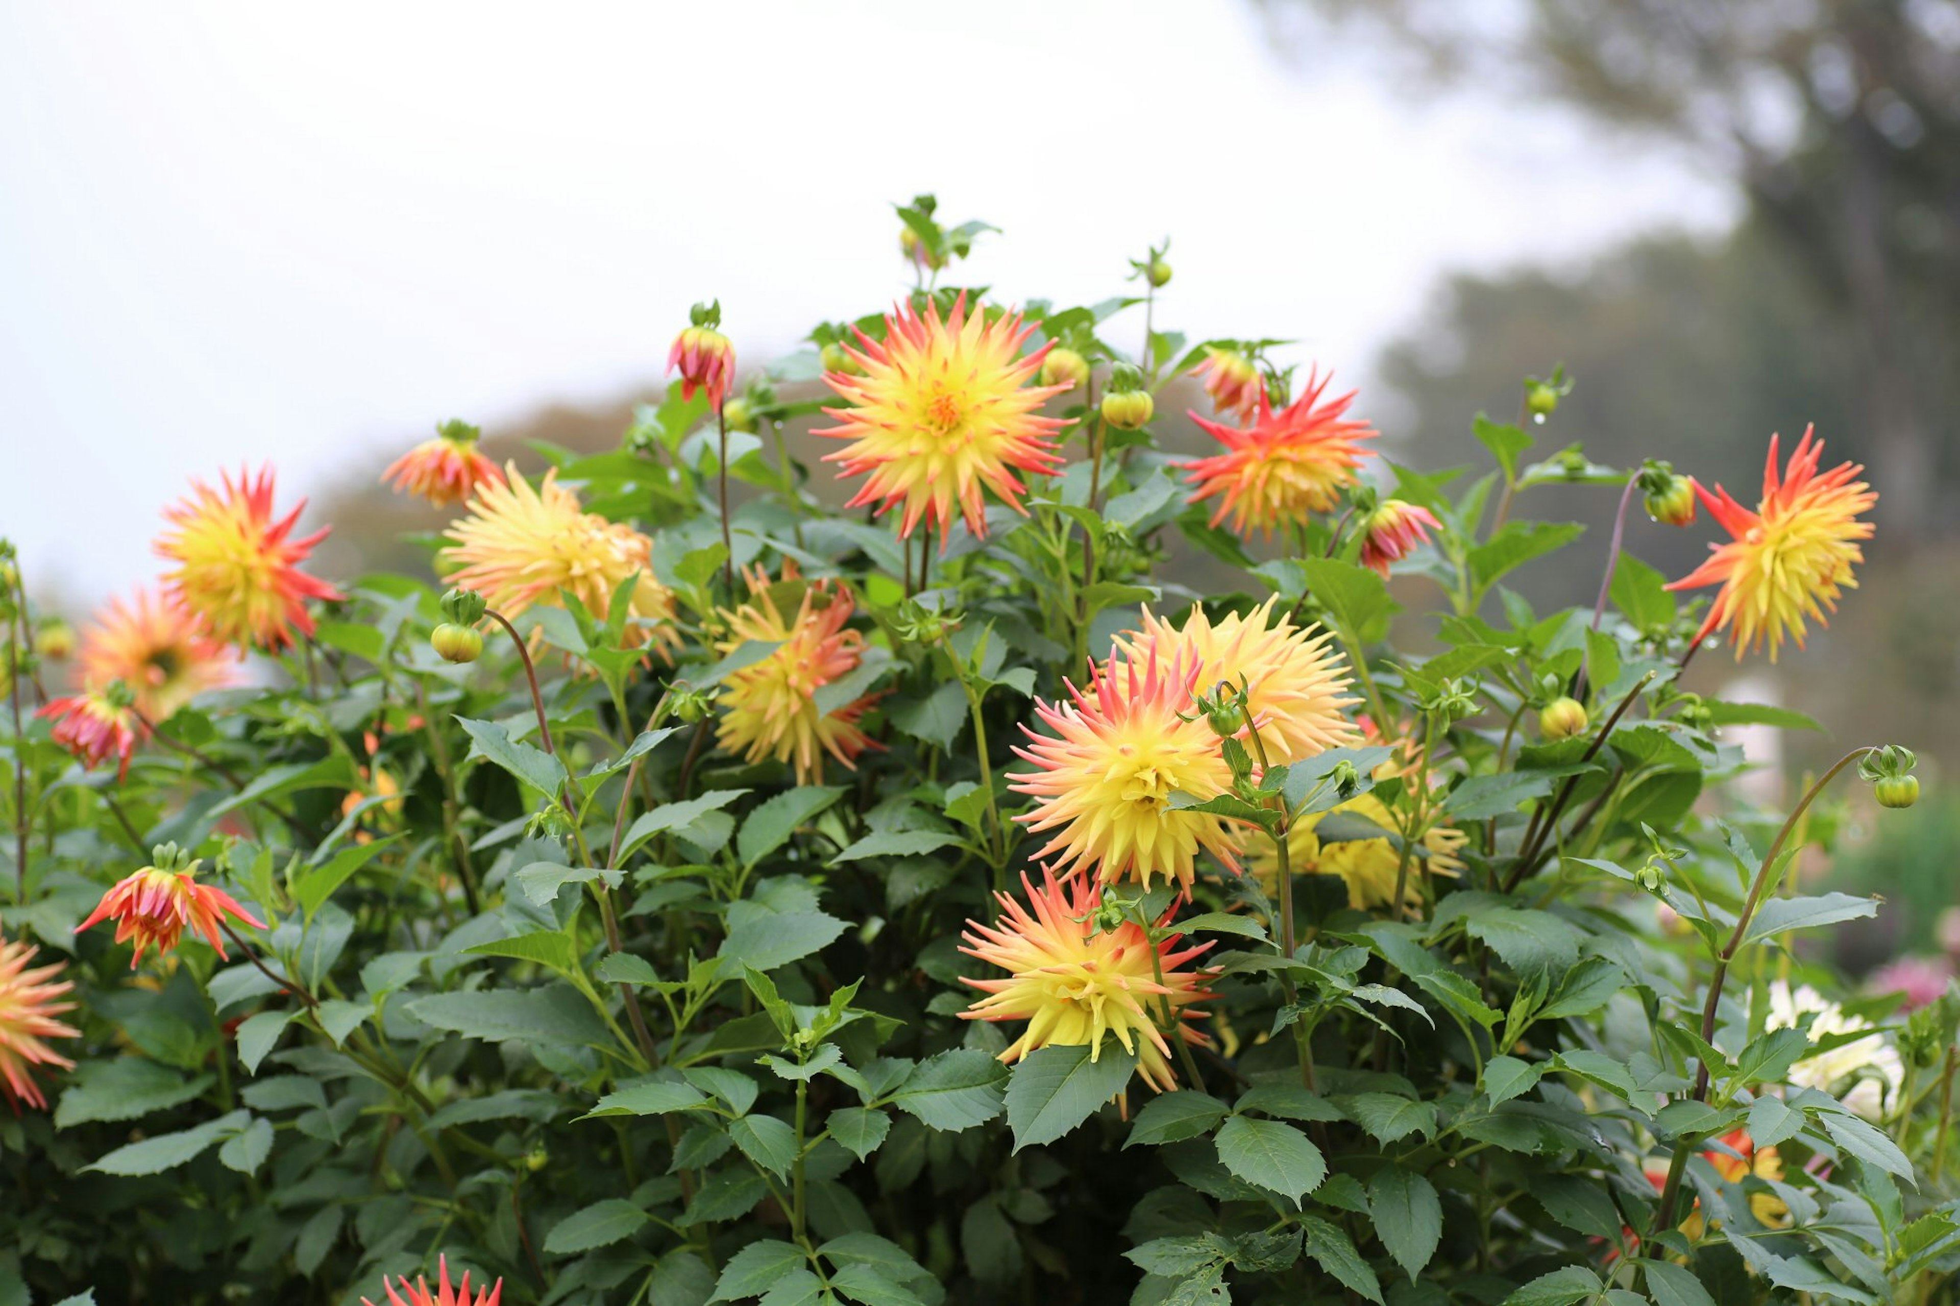
[[[733,653],[751,639],[778,647],[723,680],[715,741],[751,763],[764,757],[794,761],[798,784],[823,779],[823,753],[855,769],[857,755],[876,747],[858,729],[872,696],[817,712],[817,690],[851,675],[864,659],[864,637],[845,629],[855,608],[851,590],[833,580],[813,580],[804,586],[796,618],[784,620],[768,575],[757,567],[747,580],[749,602],[721,614],[727,637],[715,647]],[[782,584],[796,580],[796,563],[784,563]]]

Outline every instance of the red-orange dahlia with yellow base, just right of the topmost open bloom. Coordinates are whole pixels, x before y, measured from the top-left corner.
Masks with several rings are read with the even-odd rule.
[[[1352,390],[1323,402],[1331,380],[1333,375],[1315,373],[1305,392],[1280,412],[1262,392],[1258,420],[1245,429],[1192,414],[1192,422],[1225,445],[1225,453],[1184,463],[1194,490],[1188,502],[1219,500],[1211,526],[1229,516],[1233,531],[1243,535],[1247,527],[1258,527],[1270,537],[1309,512],[1327,512],[1341,490],[1354,484],[1360,441],[1374,439],[1376,431],[1347,416]]]

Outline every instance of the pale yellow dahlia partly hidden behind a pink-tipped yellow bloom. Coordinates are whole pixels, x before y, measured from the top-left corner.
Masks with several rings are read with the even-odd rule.
[[[1217,624],[1192,604],[1184,629],[1172,629],[1145,608],[1143,631],[1117,635],[1117,647],[1133,663],[1147,663],[1154,653],[1164,667],[1194,669],[1194,684],[1205,692],[1221,680],[1243,680],[1252,724],[1274,763],[1356,743],[1360,735],[1343,716],[1358,702],[1343,692],[1347,661],[1325,631],[1294,626],[1276,602],[1268,598]]]

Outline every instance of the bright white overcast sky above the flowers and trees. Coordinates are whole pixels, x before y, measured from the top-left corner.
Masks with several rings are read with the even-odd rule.
[[[1123,290],[1364,380],[1441,273],[1731,198],[1543,114],[1290,65],[1237,0],[0,0],[0,533],[73,606],[188,477],[280,498],[447,416],[604,400],[719,296],[759,359],[907,284],[892,200],[1005,229],[1002,298]],[[1141,327],[1137,327],[1141,329]]]

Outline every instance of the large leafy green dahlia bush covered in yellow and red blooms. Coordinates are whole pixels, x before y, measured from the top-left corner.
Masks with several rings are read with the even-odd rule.
[[[1417,469],[1162,249],[1007,306],[900,216],[615,449],[378,457],[417,575],[270,467],[78,633],[8,551],[0,1302],[1956,1300],[1960,994],[1805,857],[1913,755],[1762,810],[1811,722],[1688,688],[1854,598],[1860,469],[1599,465],[1558,373]]]

